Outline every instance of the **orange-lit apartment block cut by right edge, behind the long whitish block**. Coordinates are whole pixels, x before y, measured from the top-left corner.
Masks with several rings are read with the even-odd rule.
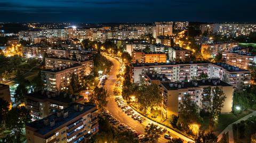
[[[256,55],[244,52],[223,52],[222,58],[226,60],[226,63],[238,66],[241,69],[248,69],[251,62],[256,62]]]

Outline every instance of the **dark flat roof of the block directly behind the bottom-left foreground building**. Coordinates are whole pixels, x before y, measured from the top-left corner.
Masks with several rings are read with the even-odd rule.
[[[25,95],[26,98],[37,98],[41,100],[56,100],[57,102],[62,102],[62,103],[73,103],[72,98],[78,97],[78,99],[83,98],[83,96],[78,96],[78,95],[72,95],[72,94],[67,94],[64,92],[55,92],[55,91],[46,91],[46,90],[41,90],[38,92],[33,92],[30,94]],[[77,99],[76,99],[77,100]]]

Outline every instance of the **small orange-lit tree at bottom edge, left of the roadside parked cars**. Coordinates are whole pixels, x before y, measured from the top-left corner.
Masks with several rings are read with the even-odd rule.
[[[157,142],[158,138],[160,137],[160,132],[156,130],[157,125],[151,124],[149,128],[145,129],[145,136],[148,138],[148,142],[154,143]]]

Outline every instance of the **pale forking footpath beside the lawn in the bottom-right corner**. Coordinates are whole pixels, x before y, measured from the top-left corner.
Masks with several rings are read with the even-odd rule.
[[[248,114],[241,119],[237,120],[236,122],[233,122],[229,124],[218,136],[218,141],[220,141],[222,134],[228,132],[228,142],[229,143],[234,143],[234,134],[233,134],[233,127],[232,124],[239,123],[241,121],[247,120],[250,116],[256,116],[256,111],[253,111],[251,114]]]

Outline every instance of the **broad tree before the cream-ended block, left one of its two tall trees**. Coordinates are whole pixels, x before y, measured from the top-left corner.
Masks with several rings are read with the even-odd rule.
[[[190,95],[184,95],[180,105],[178,124],[187,130],[190,124],[200,123],[202,119],[198,108],[198,105],[191,100]]]

